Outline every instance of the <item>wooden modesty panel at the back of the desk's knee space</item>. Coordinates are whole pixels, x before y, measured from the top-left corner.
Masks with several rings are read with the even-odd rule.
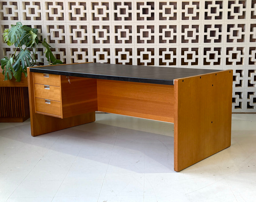
[[[174,121],[174,86],[97,79],[98,110]]]

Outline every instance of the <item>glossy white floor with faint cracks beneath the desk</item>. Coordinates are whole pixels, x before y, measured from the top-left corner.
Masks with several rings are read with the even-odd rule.
[[[180,172],[172,136],[113,114],[37,137],[0,123],[0,202],[256,201],[256,114],[233,114],[231,147]]]

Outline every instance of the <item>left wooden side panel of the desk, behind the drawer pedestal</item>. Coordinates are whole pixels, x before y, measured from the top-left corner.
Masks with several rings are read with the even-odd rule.
[[[35,113],[33,72],[27,68],[31,135],[37,136],[65,128],[95,121],[95,112],[72,116],[65,119]]]

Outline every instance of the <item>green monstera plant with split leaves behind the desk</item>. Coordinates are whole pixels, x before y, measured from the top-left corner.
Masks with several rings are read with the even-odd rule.
[[[4,30],[4,41],[8,46],[14,45],[16,47],[10,57],[1,59],[4,80],[15,77],[16,81],[20,81],[22,73],[27,77],[27,67],[42,65],[36,58],[36,47],[39,43],[45,47],[44,53],[48,65],[62,64],[62,61],[53,55],[52,47],[46,42],[46,39],[41,41],[37,34],[38,29],[22,25],[21,22],[17,22],[16,25],[11,25],[10,29]]]

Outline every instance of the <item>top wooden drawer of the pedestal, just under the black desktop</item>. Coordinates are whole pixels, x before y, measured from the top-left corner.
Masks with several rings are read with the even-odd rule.
[[[60,86],[60,75],[34,72],[34,83]]]

